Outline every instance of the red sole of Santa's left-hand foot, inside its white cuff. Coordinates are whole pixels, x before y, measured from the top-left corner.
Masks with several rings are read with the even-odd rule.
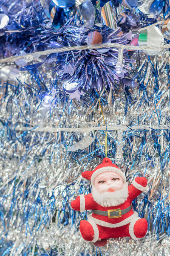
[[[94,239],[94,229],[88,221],[80,221],[80,232],[82,238],[86,241],[92,241]]]

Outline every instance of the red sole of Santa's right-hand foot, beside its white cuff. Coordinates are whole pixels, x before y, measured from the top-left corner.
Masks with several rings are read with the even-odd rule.
[[[133,232],[136,238],[144,237],[147,233],[147,220],[144,218],[137,220],[133,227]]]

